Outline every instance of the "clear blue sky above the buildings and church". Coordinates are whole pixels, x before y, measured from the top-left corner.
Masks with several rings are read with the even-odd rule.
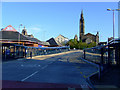
[[[85,34],[99,31],[100,41],[113,36],[113,14],[107,8],[117,9],[117,2],[3,2],[2,27],[12,25],[22,32],[46,41],[59,34],[73,39],[79,37],[79,20],[83,10]],[[115,37],[118,37],[118,11],[115,11]]]

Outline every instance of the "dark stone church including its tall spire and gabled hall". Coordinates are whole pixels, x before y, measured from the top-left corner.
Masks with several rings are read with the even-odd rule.
[[[96,35],[93,35],[91,33],[85,34],[85,21],[83,17],[83,10],[81,11],[81,17],[80,17],[80,23],[79,23],[79,40],[82,42],[86,42],[87,44],[91,42],[96,42],[96,44],[99,43],[99,32],[97,32]]]

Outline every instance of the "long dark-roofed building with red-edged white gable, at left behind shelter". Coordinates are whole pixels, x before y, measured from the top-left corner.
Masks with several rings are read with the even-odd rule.
[[[12,44],[20,44],[23,46],[31,46],[31,47],[39,47],[44,46],[37,38],[34,38],[33,35],[27,35],[27,30],[22,30],[22,34],[19,33],[14,27],[8,25],[4,29],[0,31],[0,42],[1,43],[12,43]],[[49,46],[46,44],[45,46]]]

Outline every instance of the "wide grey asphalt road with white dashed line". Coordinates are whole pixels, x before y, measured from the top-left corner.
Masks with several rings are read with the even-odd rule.
[[[78,50],[3,62],[3,88],[88,88],[86,78],[97,68],[81,56]]]

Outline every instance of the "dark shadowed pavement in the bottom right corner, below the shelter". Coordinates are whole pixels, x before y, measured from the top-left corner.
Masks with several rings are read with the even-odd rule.
[[[95,88],[98,90],[101,88],[113,89],[120,88],[120,67],[111,66],[107,72],[105,72],[101,79],[98,79],[98,75],[90,77],[90,80]]]

